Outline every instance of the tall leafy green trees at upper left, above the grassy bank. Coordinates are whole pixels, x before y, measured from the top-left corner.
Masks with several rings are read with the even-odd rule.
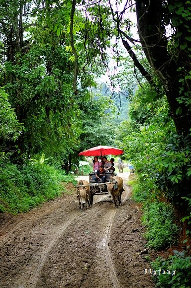
[[[106,126],[100,128],[110,103],[98,103],[87,91],[102,65],[93,52],[92,67],[86,63],[86,19],[70,1],[1,0],[0,8],[0,84],[25,127],[16,143],[6,145],[16,162],[43,152],[68,170],[85,144],[111,138],[104,136]]]

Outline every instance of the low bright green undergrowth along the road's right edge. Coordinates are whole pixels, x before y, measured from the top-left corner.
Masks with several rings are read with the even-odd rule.
[[[146,225],[144,237],[146,246],[159,251],[177,243],[179,227],[175,224],[173,206],[161,202],[156,191],[150,191],[145,182],[139,178],[130,180],[133,190],[133,200],[142,205],[142,222]]]

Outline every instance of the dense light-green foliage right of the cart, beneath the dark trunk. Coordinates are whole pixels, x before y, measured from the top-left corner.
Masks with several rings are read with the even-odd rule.
[[[120,141],[142,186],[164,191],[171,202],[185,205],[182,197],[190,194],[190,143],[181,145],[165,96],[155,97],[146,84],[139,89],[130,106],[131,120],[120,127]]]

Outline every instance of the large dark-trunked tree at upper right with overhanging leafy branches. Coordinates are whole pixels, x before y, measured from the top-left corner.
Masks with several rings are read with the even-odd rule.
[[[87,21],[94,24],[90,32],[86,29],[87,50],[96,46],[107,64],[104,54],[112,46],[112,37],[116,42],[121,39],[134,65],[153,88],[158,89],[156,77],[159,79],[177,132],[184,138],[188,137],[191,128],[191,1],[135,0],[132,3],[128,0],[124,4],[121,1],[112,4],[110,0],[86,1],[85,10],[90,19]],[[132,26],[128,17],[130,10],[136,11],[140,40],[133,39],[129,32]],[[131,46],[135,47],[139,42],[150,65],[148,69],[139,61]],[[117,43],[114,43],[113,49],[117,50]]]

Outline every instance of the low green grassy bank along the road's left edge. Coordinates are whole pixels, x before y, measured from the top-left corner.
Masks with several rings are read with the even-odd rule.
[[[54,199],[66,193],[62,182],[76,184],[73,175],[46,164],[4,164],[0,167],[0,212],[23,213]]]

